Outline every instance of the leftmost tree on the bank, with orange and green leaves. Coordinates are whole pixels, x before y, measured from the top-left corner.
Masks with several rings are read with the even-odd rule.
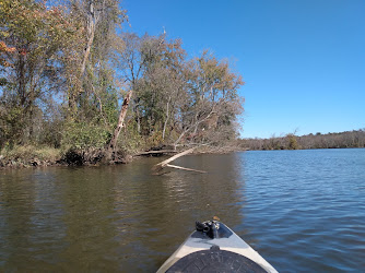
[[[0,73],[7,79],[0,87],[7,104],[1,119],[9,134],[24,142],[32,139],[30,124],[39,103],[64,87],[63,49],[78,39],[78,26],[63,7],[48,9],[34,0],[3,0],[0,21]]]

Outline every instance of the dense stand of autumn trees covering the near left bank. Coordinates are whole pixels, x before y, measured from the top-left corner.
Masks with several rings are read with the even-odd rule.
[[[0,1],[2,154],[111,158],[236,139],[244,82],[228,61],[189,57],[180,39],[123,32],[126,23],[119,0]]]

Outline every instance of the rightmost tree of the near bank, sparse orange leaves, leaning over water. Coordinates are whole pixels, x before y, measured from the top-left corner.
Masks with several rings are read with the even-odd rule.
[[[233,124],[242,111],[238,95],[238,88],[244,84],[242,76],[231,71],[228,62],[217,60],[209,51],[187,63],[186,81],[187,99],[181,106],[181,132],[175,145],[188,132],[196,138],[199,131]],[[235,131],[233,126],[231,131]]]

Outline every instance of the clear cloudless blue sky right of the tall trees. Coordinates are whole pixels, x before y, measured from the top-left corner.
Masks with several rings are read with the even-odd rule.
[[[123,0],[125,31],[228,58],[246,84],[243,138],[365,128],[365,0]]]

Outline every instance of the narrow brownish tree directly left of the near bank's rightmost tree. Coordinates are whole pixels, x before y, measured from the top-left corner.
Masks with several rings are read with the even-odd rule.
[[[145,45],[143,52],[149,52],[146,69],[139,84],[144,119],[149,132],[162,129],[162,139],[166,136],[168,123],[173,123],[177,104],[184,95],[184,68],[186,52],[181,40],[153,38]]]

